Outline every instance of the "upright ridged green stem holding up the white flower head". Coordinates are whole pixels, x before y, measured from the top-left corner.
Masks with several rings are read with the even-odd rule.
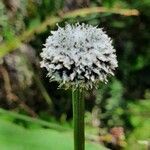
[[[78,87],[72,89],[72,105],[74,119],[74,150],[84,150],[84,96],[83,90]]]

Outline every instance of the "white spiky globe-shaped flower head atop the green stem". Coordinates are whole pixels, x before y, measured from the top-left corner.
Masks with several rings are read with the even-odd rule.
[[[91,25],[58,27],[44,46],[41,67],[60,87],[96,87],[99,81],[107,83],[107,77],[114,75],[118,66],[111,39],[101,28]]]

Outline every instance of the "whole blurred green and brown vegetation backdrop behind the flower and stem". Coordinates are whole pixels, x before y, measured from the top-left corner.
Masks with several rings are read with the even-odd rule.
[[[66,22],[103,27],[119,61],[86,93],[86,149],[149,149],[150,1],[0,0],[1,150],[72,149],[71,92],[39,67],[50,30]]]

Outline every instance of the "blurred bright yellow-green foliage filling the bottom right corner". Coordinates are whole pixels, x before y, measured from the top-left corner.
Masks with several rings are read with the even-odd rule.
[[[130,146],[127,149],[144,150],[148,148],[150,140],[150,99],[130,103],[128,109],[131,112],[129,118],[134,130],[129,134],[128,143]]]

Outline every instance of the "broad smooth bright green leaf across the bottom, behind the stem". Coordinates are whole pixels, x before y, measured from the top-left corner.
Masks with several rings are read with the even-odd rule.
[[[71,132],[51,129],[25,129],[0,120],[1,150],[73,150]],[[99,144],[86,142],[86,150],[105,150]]]

